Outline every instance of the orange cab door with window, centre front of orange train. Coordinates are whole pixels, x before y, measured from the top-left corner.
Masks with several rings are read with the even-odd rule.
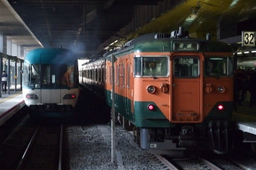
[[[170,121],[198,123],[203,121],[203,55],[174,53]]]

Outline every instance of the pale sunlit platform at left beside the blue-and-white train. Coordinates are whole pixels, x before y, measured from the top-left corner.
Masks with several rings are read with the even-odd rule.
[[[8,92],[2,93],[0,97],[0,126],[8,121],[16,112],[25,106],[22,91],[17,86],[17,91],[14,91],[14,86]]]

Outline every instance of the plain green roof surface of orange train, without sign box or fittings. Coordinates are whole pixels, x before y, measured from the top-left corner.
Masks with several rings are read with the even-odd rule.
[[[128,41],[120,49],[114,49],[110,52],[106,52],[103,55],[103,58],[108,57],[108,55],[111,54],[117,55],[118,57],[118,54],[121,54],[130,49],[133,49],[133,52],[175,52],[173,44],[178,42],[195,42],[200,44],[200,48],[194,52],[233,52],[233,49],[230,45],[221,41],[201,40],[188,36],[179,37],[165,33],[151,33],[136,37],[135,39]]]

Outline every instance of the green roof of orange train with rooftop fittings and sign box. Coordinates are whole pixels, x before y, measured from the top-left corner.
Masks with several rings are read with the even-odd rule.
[[[197,47],[194,49],[178,49],[177,46],[181,44],[194,44]],[[175,45],[176,44],[176,45]],[[176,48],[175,48],[176,47]],[[131,52],[229,52],[233,53],[233,49],[227,43],[211,40],[211,35],[206,34],[206,40],[191,38],[188,36],[188,31],[184,31],[182,27],[179,30],[172,31],[171,34],[167,33],[151,33],[144,34],[140,37],[136,37],[123,44],[120,49],[113,49],[106,52],[102,56],[93,58],[87,63],[99,61],[103,58],[108,58],[111,55],[118,57],[120,55],[126,55]]]

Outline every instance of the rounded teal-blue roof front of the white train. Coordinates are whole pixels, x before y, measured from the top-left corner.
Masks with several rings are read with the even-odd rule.
[[[74,52],[62,48],[38,48],[30,51],[24,58],[29,64],[76,64],[78,58]]]

